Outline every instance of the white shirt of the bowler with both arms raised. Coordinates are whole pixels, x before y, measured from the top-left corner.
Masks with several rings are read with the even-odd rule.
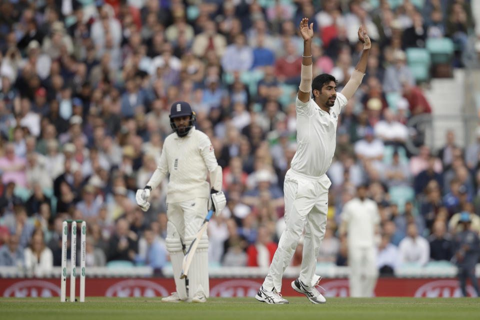
[[[310,97],[307,102],[295,100],[297,150],[291,168],[299,173],[320,177],[330,166],[336,146],[336,125],[347,99],[340,92],[330,113],[320,109]]]

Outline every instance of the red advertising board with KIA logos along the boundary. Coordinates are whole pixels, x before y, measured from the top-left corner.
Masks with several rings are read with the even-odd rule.
[[[285,278],[281,293],[284,296],[300,295],[295,292]],[[69,279],[67,279],[69,281]],[[79,283],[79,278],[76,279]],[[262,278],[211,278],[210,296],[233,297],[254,296]],[[175,291],[172,278],[86,278],[85,296],[155,297],[166,296]],[[79,285],[76,285],[79,294]],[[67,283],[69,285],[69,283]],[[348,279],[328,278],[321,280],[326,290],[320,292],[326,297],[348,296]],[[471,284],[467,293],[476,296]],[[2,278],[0,296],[3,297],[52,297],[60,294],[60,279],[55,278]],[[459,297],[461,291],[455,278],[379,278],[375,296],[415,296],[415,297]]]

